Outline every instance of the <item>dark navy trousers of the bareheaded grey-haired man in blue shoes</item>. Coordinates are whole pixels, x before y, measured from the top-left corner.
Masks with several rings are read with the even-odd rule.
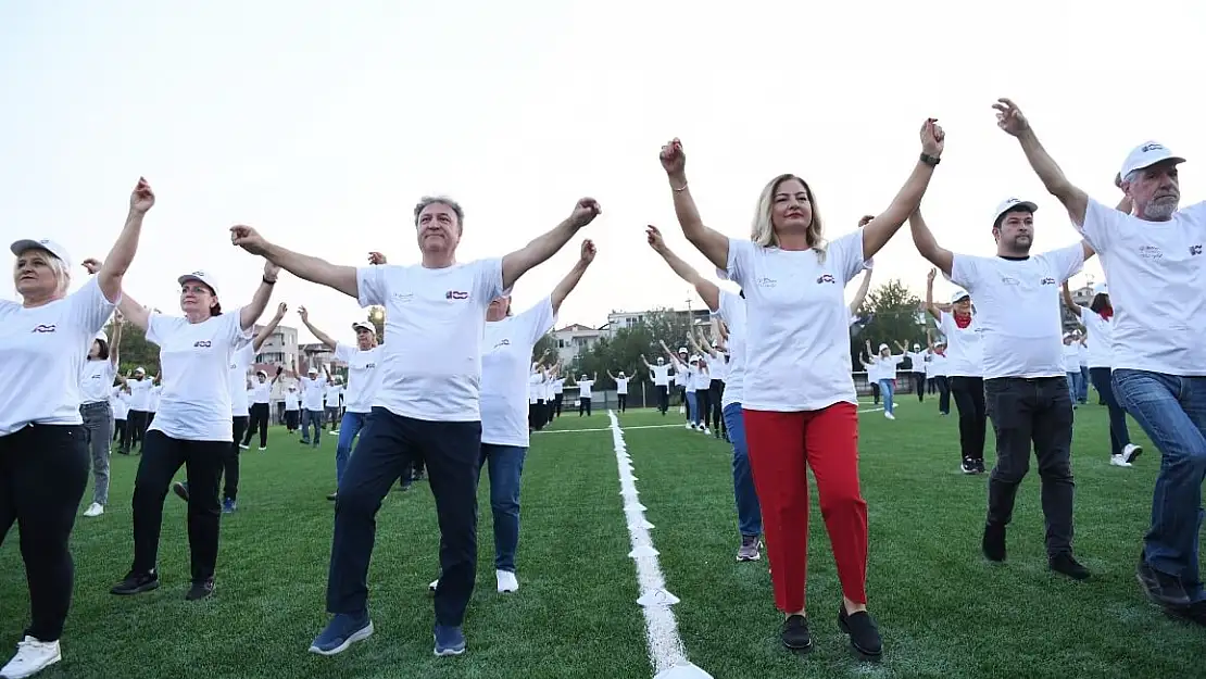
[[[429,422],[374,408],[361,429],[335,499],[327,610],[368,609],[376,513],[415,458],[427,463],[440,526],[435,622],[459,626],[478,575],[478,460],[481,422]],[[426,544],[426,543],[423,543]]]

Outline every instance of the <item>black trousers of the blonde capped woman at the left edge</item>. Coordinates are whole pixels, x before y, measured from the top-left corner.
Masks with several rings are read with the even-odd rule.
[[[25,636],[40,642],[63,636],[71,609],[71,528],[88,485],[88,461],[82,426],[30,425],[0,437],[0,545],[16,522],[29,584]]]

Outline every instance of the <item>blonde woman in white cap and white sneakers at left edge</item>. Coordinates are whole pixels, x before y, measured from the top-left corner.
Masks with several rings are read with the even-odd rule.
[[[21,302],[0,300],[0,543],[21,527],[31,622],[0,677],[33,677],[59,662],[59,637],[71,609],[71,529],[88,485],[88,431],[81,374],[94,340],[122,300],[154,193],[140,178],[125,226],[107,263],[80,289],[71,257],[48,239],[21,239],[10,250]],[[8,608],[14,608],[16,603]],[[12,616],[12,613],[6,613]]]

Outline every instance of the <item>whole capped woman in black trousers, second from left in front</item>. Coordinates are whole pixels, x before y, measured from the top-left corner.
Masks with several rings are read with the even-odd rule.
[[[234,431],[230,421],[230,358],[251,341],[280,269],[264,263],[263,279],[251,302],[223,312],[213,275],[189,271],[178,276],[181,316],[152,311],[131,297],[122,298],[122,314],[159,345],[163,397],[147,429],[134,480],[134,563],[110,590],[118,596],[148,592],[159,586],[159,533],[163,502],[171,479],[185,467],[188,481],[188,546],[191,586],[197,601],[213,593],[222,505],[218,486]]]

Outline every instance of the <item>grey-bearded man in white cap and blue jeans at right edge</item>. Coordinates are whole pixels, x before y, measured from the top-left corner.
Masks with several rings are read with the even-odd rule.
[[[1101,253],[1113,306],[1113,388],[1163,461],[1137,576],[1170,615],[1206,626],[1198,567],[1206,480],[1206,203],[1179,207],[1184,158],[1149,141],[1118,172],[1130,210],[1076,187],[1038,142],[1021,111],[997,105],[1030,166],[1077,230]]]

